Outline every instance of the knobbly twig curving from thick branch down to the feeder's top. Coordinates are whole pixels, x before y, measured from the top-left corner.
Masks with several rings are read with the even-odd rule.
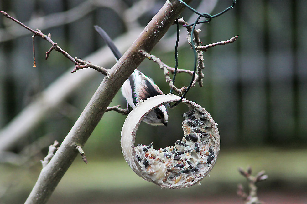
[[[148,59],[152,60],[153,62],[156,62],[159,65],[159,67],[161,69],[163,69],[166,82],[169,83],[169,86],[170,86],[171,89],[173,89],[178,94],[182,94],[183,92],[186,91],[186,87],[182,87],[182,88],[178,89],[177,87],[174,86],[172,79],[169,77],[169,71],[167,70],[165,64],[158,57],[151,55],[151,54],[145,52],[144,50],[141,50],[139,53],[142,56],[147,57]]]

